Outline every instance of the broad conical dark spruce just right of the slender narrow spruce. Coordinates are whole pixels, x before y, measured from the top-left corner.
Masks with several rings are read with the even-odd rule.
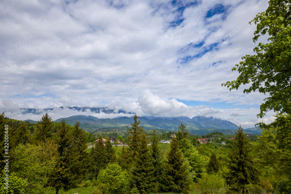
[[[178,148],[178,140],[173,137],[162,172],[162,189],[165,192],[187,193],[190,177],[187,163]]]

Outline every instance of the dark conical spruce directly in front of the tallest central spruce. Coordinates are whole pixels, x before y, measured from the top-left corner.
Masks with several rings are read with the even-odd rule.
[[[132,179],[140,193],[149,193],[154,187],[155,169],[148,149],[146,134],[141,135],[140,143],[132,168]]]

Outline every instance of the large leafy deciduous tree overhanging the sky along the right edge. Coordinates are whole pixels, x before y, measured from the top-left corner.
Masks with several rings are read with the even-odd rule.
[[[253,42],[268,34],[269,43],[259,43],[254,48],[256,54],[242,57],[244,61],[232,69],[239,72],[237,80],[222,84],[232,90],[251,83],[244,93],[255,90],[269,93],[265,103],[260,106],[260,118],[269,110],[282,113],[291,111],[291,4],[287,0],[270,0],[268,3],[267,10],[256,15],[250,24],[253,22],[257,25]]]

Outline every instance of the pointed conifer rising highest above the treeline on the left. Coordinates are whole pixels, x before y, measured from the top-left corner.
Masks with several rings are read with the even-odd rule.
[[[45,115],[42,116],[41,120],[38,121],[36,125],[35,139],[37,141],[46,141],[47,138],[50,138],[52,136],[52,132],[54,131],[52,125],[52,118],[49,117],[47,113],[45,113]]]

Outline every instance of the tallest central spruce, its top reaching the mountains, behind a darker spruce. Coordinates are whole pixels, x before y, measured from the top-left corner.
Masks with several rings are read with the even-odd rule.
[[[140,142],[141,134],[144,132],[144,129],[142,126],[139,126],[139,123],[141,122],[140,120],[137,121],[139,117],[134,115],[134,123],[131,124],[131,129],[127,127],[127,132],[128,132],[128,147],[129,150],[131,151],[132,156],[136,156],[137,152],[137,147]]]

